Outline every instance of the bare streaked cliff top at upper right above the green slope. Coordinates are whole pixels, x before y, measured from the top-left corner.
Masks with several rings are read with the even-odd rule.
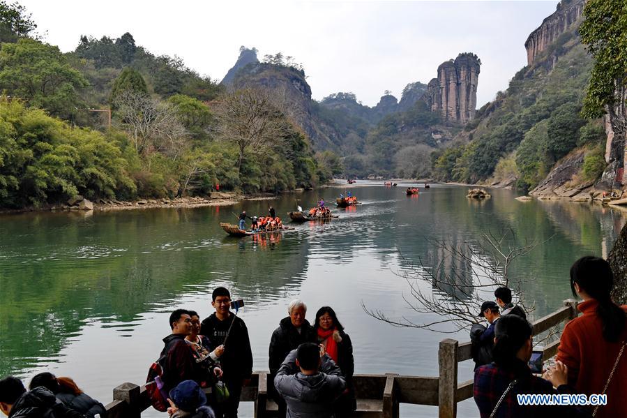
[[[524,47],[527,49],[527,65],[531,66],[571,24],[577,22],[584,11],[585,0],[562,0],[555,13],[543,20],[538,29],[531,32]]]

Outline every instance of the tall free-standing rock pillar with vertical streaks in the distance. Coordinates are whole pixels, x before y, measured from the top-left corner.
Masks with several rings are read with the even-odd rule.
[[[477,83],[481,61],[475,54],[459,54],[437,68],[437,78],[427,86],[426,99],[442,120],[465,124],[477,107]]]

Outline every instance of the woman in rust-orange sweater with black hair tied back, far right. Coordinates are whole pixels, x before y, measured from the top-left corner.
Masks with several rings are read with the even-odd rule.
[[[627,305],[610,298],[610,263],[582,257],[571,267],[571,290],[583,313],[561,334],[557,359],[568,366],[568,383],[582,394],[606,394],[596,417],[627,417]]]

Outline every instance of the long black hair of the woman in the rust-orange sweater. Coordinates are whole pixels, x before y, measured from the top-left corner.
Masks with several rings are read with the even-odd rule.
[[[575,283],[579,285],[580,290],[598,301],[596,313],[603,324],[603,338],[610,343],[619,341],[625,329],[626,314],[610,298],[614,286],[614,274],[610,263],[591,255],[581,257],[571,267],[571,290],[577,297]]]

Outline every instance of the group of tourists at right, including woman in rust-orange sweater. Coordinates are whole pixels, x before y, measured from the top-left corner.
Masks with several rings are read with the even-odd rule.
[[[512,304],[511,290],[498,288],[496,300],[481,305],[478,316],[489,325],[471,327],[474,400],[481,418],[627,417],[627,305],[610,297],[610,264],[582,257],[571,267],[570,284],[573,296],[583,300],[577,305],[583,315],[566,324],[554,365],[542,373],[529,367],[534,329],[521,306]],[[566,396],[523,405],[520,395]],[[607,403],[599,405],[597,395],[607,396]]]

